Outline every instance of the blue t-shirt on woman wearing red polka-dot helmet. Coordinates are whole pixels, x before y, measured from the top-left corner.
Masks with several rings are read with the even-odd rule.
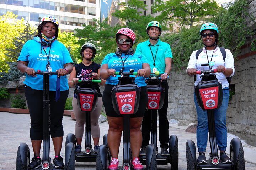
[[[124,72],[128,72],[130,69],[134,69],[134,72],[137,72],[139,69],[142,69],[143,63],[148,63],[148,60],[142,54],[125,55],[124,53],[122,53],[121,57],[122,57],[123,61],[126,59],[126,57],[128,57],[126,59],[126,61],[124,62]],[[110,54],[106,55],[101,63],[101,66],[103,64],[108,64],[108,68],[113,68],[117,72],[119,72],[123,68],[123,63],[122,63],[121,58],[118,57],[115,53],[110,53]],[[131,76],[135,77],[134,75],[131,75]],[[106,84],[117,85],[118,77],[120,77],[120,75],[116,75],[116,77],[110,76],[106,80]],[[137,76],[135,78],[135,83],[139,87],[146,86],[145,77]]]

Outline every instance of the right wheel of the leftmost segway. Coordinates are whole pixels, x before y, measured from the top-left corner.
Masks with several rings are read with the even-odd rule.
[[[65,170],[75,170],[75,146],[72,142],[65,146]]]

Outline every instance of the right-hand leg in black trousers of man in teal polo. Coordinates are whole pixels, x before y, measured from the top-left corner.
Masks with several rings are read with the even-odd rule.
[[[169,86],[167,81],[161,83],[163,89],[165,90],[164,105],[158,111],[159,115],[159,142],[161,147],[161,155],[169,155],[168,143],[169,143],[169,121],[167,118],[168,109],[168,90]]]

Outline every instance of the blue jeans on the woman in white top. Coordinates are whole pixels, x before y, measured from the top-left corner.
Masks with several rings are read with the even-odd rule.
[[[203,111],[197,103],[196,95],[194,101],[197,110],[197,148],[198,152],[205,152],[208,140],[208,117],[207,111]],[[227,147],[227,128],[226,128],[226,110],[229,102],[229,88],[223,89],[223,99],[220,108],[214,110],[216,140],[220,151],[226,151]]]

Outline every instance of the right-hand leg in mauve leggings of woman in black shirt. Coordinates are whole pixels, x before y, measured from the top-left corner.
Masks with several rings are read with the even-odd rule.
[[[98,103],[95,111],[91,112],[91,135],[94,141],[94,146],[99,145],[100,140],[100,126],[98,124],[98,119],[101,114],[102,109],[102,97],[98,98]]]

